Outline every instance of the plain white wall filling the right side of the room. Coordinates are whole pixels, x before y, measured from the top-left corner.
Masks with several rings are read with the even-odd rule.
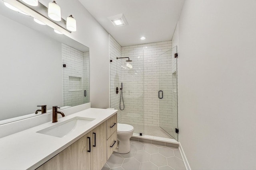
[[[256,169],[256,1],[186,0],[180,143],[192,169]]]

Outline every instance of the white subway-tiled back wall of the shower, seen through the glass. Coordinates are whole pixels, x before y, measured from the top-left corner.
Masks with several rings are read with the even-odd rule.
[[[128,109],[122,111],[122,121],[124,123],[145,124],[145,125],[160,125],[159,117],[159,78],[162,79],[161,85],[167,85],[170,81],[170,68],[168,71],[168,64],[170,65],[170,58],[160,59],[159,55],[171,49],[171,41],[164,41],[158,43],[150,43],[144,45],[133,45],[122,47],[122,57],[129,57],[133,68],[122,69],[122,82],[127,82],[129,86],[124,86],[125,104],[129,105]],[[167,62],[169,60],[169,63]],[[123,61],[123,66],[126,64]],[[159,73],[159,66],[164,65],[164,73]],[[161,69],[160,68],[160,69]],[[125,70],[125,74],[123,73]],[[163,90],[164,91],[164,90]],[[134,94],[131,97],[131,94]],[[167,93],[164,94],[166,98],[171,98]],[[138,96],[138,102],[134,97]],[[141,96],[141,98],[139,98]],[[144,100],[143,100],[144,97]],[[171,112],[171,101],[163,103],[164,109],[169,109]],[[144,108],[143,108],[144,106]],[[144,109],[144,114],[142,113]],[[162,108],[161,108],[162,109]],[[124,116],[123,116],[124,115]],[[142,115],[142,118],[140,117]],[[124,119],[123,119],[124,117]],[[170,125],[170,117],[166,117],[165,121]]]

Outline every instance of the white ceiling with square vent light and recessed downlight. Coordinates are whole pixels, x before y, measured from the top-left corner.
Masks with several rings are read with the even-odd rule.
[[[171,40],[185,0],[79,1],[124,47]],[[118,14],[124,14],[128,25],[115,27],[108,19]]]

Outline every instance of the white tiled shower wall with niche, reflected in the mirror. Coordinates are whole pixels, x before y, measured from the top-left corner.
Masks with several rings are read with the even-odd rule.
[[[63,106],[84,104],[89,100],[89,52],[62,43],[62,63],[66,64],[62,69]],[[85,88],[88,88],[86,97]]]

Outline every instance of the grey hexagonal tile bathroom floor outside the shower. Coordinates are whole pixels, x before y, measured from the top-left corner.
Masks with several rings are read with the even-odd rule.
[[[185,170],[178,148],[130,141],[131,151],[113,154],[102,170]]]

